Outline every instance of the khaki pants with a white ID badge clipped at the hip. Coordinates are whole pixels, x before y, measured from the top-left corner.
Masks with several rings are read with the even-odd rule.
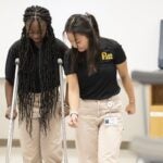
[[[76,129],[79,163],[117,163],[122,130],[118,96],[105,100],[80,100]]]

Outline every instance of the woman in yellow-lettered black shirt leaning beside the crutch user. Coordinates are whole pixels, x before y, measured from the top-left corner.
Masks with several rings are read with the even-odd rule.
[[[126,54],[117,41],[100,37],[91,14],[70,16],[64,34],[72,45],[64,68],[79,163],[117,163],[123,130],[117,73],[128,97],[126,112],[136,111]]]

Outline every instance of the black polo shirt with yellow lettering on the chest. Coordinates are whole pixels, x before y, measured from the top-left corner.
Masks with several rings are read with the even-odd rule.
[[[116,78],[116,64],[126,61],[126,55],[121,45],[112,39],[100,38],[100,53],[97,60],[97,72],[88,75],[86,58],[72,70],[71,50],[64,57],[65,74],[77,74],[82,99],[101,100],[120,92]],[[86,57],[86,52],[79,52]]]

